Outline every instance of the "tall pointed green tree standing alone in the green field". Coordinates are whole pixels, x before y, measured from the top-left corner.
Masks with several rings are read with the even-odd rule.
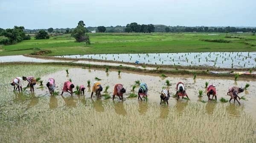
[[[84,22],[79,21],[71,36],[73,36],[77,42],[86,42],[87,44],[90,44],[90,38],[87,34],[85,34],[87,29],[84,26]]]

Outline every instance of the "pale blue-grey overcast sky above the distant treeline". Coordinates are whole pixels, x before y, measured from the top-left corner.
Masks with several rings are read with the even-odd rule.
[[[256,0],[0,0],[0,28],[163,24],[256,27]]]

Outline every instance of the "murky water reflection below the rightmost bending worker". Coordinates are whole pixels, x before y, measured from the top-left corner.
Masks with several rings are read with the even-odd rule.
[[[226,107],[226,111],[228,115],[234,118],[239,118],[241,116],[241,113],[244,110],[244,105],[239,105],[236,103],[231,103]]]

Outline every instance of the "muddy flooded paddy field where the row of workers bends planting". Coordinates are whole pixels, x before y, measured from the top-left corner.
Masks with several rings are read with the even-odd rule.
[[[68,69],[69,74],[65,69]],[[126,73],[110,69],[82,69],[74,67],[53,67],[40,65],[5,65],[0,68],[0,142],[256,142],[256,81],[254,79],[211,78],[198,76],[172,76]],[[41,77],[44,86],[38,83],[35,93],[12,92],[9,84],[16,76]],[[119,98],[90,98],[94,78],[102,79],[103,90],[110,86],[112,94],[116,83],[124,84],[127,93],[125,101]],[[81,95],[50,96],[45,86],[48,78],[54,78],[61,92],[64,81],[72,79],[73,84],[84,84],[85,97]],[[166,86],[166,80],[171,86]],[[148,100],[137,101],[128,98],[137,93],[132,91],[134,81],[148,84]],[[175,93],[178,81],[183,81],[190,100],[170,98],[169,106],[160,105],[162,87]],[[205,82],[215,84],[218,101],[207,102]],[[240,94],[246,100],[222,103],[221,97],[229,99],[227,88],[237,85],[250,87]],[[26,82],[25,82],[26,84]],[[75,89],[74,89],[75,90]],[[204,96],[198,97],[198,90]],[[112,96],[112,95],[111,95]],[[206,103],[204,103],[206,101]]]

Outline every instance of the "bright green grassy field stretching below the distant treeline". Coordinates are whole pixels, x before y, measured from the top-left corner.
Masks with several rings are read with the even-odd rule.
[[[215,34],[215,33],[214,33]],[[209,51],[256,51],[256,36],[251,33],[209,35],[209,33],[95,33],[90,45],[75,42],[70,34],[50,39],[24,40],[15,45],[0,45],[0,56],[21,55],[51,50],[47,56],[92,53],[166,53]],[[206,42],[202,39],[223,39],[229,43]]]

